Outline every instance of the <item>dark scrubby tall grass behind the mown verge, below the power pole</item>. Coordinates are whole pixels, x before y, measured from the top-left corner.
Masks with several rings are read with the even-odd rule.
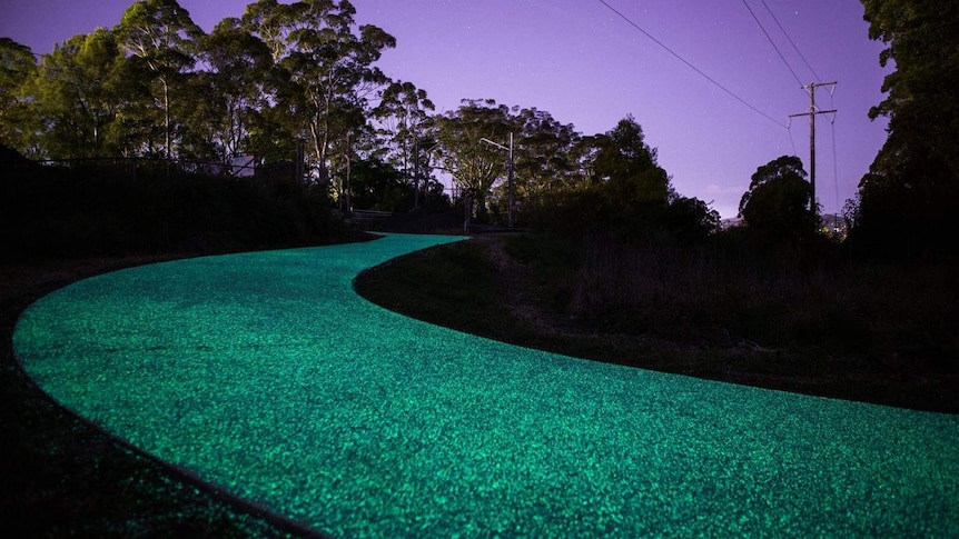
[[[755,250],[753,240],[721,234],[690,249],[591,237],[566,258],[565,313],[599,331],[959,372],[955,268],[843,261],[836,247],[832,257]]]

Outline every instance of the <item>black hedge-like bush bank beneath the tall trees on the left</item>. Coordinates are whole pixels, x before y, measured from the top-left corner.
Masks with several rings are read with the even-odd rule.
[[[4,163],[7,257],[293,247],[335,233],[325,191],[171,163]]]

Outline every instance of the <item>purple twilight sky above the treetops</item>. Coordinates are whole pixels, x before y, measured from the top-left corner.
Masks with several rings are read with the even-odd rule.
[[[734,217],[757,167],[799,154],[809,168],[809,93],[742,0],[606,0],[643,30],[735,93],[729,96],[600,0],[353,0],[359,23],[396,37],[386,74],[425,89],[437,111],[493,98],[548,111],[584,134],[629,113],[659,149],[673,186]],[[827,212],[852,197],[886,139],[870,121],[882,99],[882,44],[870,41],[857,0],[748,0],[800,81],[839,81],[817,104],[817,194]],[[131,0],[0,0],[0,36],[50,52],[55,42],[119,22]],[[180,0],[206,31],[240,17],[246,0]],[[767,11],[789,33],[817,78]],[[836,151],[833,152],[833,147]]]

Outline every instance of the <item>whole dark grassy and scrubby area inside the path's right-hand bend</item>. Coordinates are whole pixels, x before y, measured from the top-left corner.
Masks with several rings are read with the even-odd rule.
[[[730,247],[739,232],[695,250],[476,237],[370,269],[355,288],[414,318],[557,353],[959,413],[959,268],[770,260]]]

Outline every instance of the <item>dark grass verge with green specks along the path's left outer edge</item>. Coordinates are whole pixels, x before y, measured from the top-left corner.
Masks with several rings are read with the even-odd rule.
[[[323,537],[102,432],[43,393],[16,360],[14,325],[40,297],[95,275],[179,258],[187,256],[0,266],[3,537]]]

